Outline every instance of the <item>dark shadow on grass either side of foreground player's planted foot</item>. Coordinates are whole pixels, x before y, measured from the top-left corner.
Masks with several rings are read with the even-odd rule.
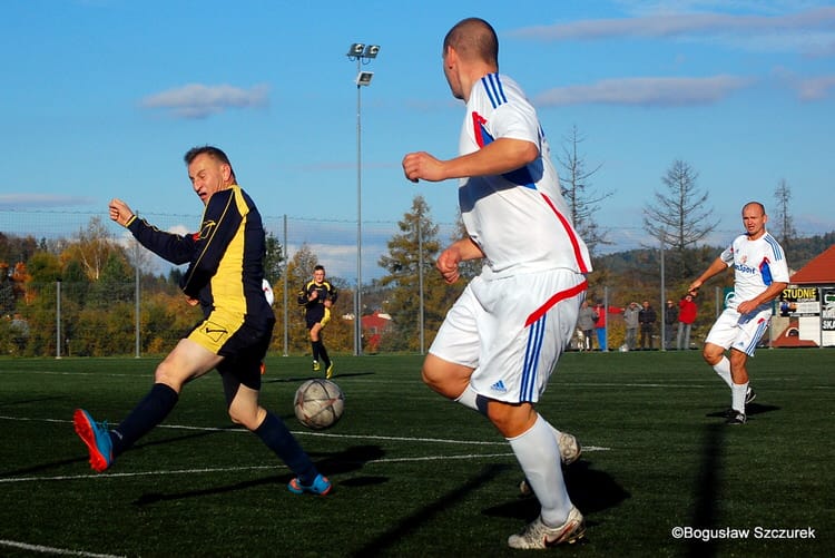
[[[615,508],[631,495],[608,473],[598,471],[590,461],[581,460],[562,470],[571,502],[583,513]],[[522,478],[520,476],[519,480]],[[492,517],[508,517],[531,521],[539,515],[539,500],[519,495],[514,500],[484,510]]]

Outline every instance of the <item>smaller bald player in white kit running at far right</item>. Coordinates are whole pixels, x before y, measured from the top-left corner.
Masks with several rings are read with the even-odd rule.
[[[754,356],[772,316],[772,301],[788,285],[788,265],[779,243],[765,228],[768,216],[759,202],[743,207],[745,234],[737,236],[719,257],[690,283],[690,294],[714,275],[734,268],[734,294],[705,340],[703,356],[730,388],[728,424],[745,424],[746,403],[754,398],[748,385],[748,356]],[[730,350],[730,359],[725,352]]]

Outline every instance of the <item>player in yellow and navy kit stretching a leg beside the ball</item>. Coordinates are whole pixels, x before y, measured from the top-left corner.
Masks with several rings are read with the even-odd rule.
[[[110,202],[110,218],[160,257],[188,264],[180,287],[188,304],[200,305],[204,321],[159,363],[153,388],[117,428],[108,431],[89,412],[77,409],[76,432],[88,447],[92,469],[105,471],[165,420],[189,381],[216,369],[229,418],[255,432],[293,471],[289,491],[325,495],[331,482],[282,419],[258,403],[261,363],[275,324],[262,287],[266,248],[261,214],[237,185],[224,151],[195,147],[185,160],[194,190],[205,205],[199,232],[181,236],[159,231],[137,218],[120,199]]]

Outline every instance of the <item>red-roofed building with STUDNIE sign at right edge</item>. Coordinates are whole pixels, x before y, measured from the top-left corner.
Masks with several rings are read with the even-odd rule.
[[[835,346],[835,245],[789,277],[772,346]]]

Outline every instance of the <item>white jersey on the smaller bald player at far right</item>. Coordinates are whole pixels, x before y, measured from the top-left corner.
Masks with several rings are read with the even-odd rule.
[[[756,241],[741,234],[719,257],[728,266],[734,266],[734,296],[728,301],[733,309],[743,301],[755,298],[772,283],[788,283],[786,255],[768,233]]]

